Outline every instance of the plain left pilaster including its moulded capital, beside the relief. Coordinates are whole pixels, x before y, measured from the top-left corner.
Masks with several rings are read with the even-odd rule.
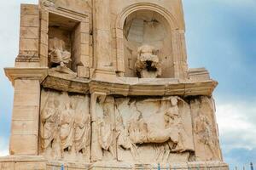
[[[38,156],[40,82],[47,70],[6,68],[5,73],[15,87],[10,155]]]

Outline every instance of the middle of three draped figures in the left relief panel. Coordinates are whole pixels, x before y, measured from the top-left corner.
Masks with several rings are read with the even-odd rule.
[[[64,152],[70,152],[73,146],[74,133],[74,105],[67,103],[65,110],[61,112],[61,156]]]

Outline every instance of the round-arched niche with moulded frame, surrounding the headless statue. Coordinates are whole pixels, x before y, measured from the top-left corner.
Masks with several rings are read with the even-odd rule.
[[[158,5],[138,3],[125,8],[116,23],[117,71],[124,77],[137,77],[137,49],[146,44],[157,49],[162,65],[160,77],[174,77],[172,32],[177,29],[173,15]]]

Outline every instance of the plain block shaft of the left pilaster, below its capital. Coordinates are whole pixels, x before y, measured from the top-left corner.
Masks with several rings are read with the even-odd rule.
[[[39,81],[15,80],[14,98],[10,154],[38,155]]]

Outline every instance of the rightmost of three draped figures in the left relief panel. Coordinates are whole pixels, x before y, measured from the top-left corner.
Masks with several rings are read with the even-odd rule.
[[[74,143],[76,153],[86,152],[90,147],[90,114],[84,111],[77,111],[74,122]]]

